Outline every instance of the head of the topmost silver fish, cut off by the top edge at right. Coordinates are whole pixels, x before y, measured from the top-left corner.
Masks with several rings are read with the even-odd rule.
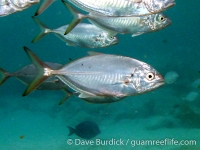
[[[176,3],[174,0],[144,0],[144,4],[149,12],[158,13],[174,6]]]

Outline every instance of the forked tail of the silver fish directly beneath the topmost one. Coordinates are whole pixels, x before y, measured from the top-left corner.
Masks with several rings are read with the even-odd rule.
[[[84,18],[87,18],[86,15],[83,15],[82,13],[78,12],[75,8],[73,8],[69,3],[62,0],[64,5],[69,9],[69,11],[74,16],[74,19],[69,24],[67,30],[65,31],[64,35],[68,34],[79,22],[81,22]]]

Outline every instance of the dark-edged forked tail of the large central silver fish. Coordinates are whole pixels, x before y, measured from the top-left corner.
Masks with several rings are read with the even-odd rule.
[[[52,69],[42,62],[30,49],[24,46],[24,51],[27,53],[33,64],[38,70],[38,74],[33,81],[28,85],[27,89],[23,93],[23,96],[28,95],[35,90],[44,80],[52,75]]]

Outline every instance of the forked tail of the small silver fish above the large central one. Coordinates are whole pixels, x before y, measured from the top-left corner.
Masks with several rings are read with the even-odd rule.
[[[40,30],[41,30],[40,33],[31,42],[31,43],[35,43],[39,41],[41,38],[43,38],[45,35],[50,33],[51,30],[36,17],[33,16],[32,18],[36,22],[36,24],[40,27]]]

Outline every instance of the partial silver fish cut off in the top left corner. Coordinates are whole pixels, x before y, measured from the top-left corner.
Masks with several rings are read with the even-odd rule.
[[[23,11],[40,0],[0,0],[0,17]]]

